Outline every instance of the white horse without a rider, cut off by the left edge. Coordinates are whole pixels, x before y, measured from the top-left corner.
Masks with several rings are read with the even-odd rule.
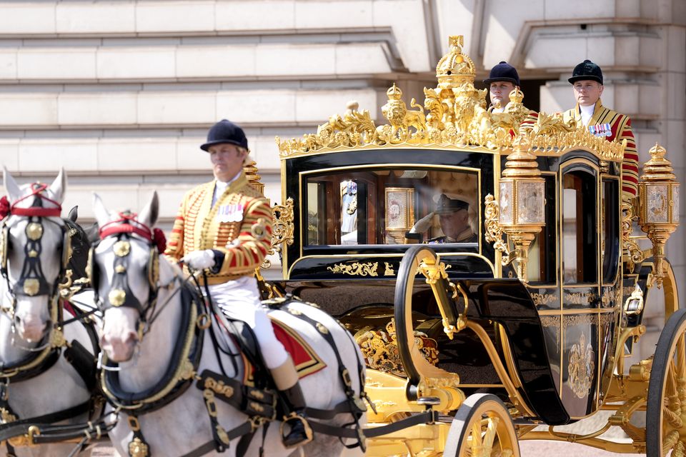
[[[72,317],[68,313],[61,316],[58,306],[58,282],[69,260],[69,233],[59,217],[66,176],[60,171],[50,186],[19,186],[5,169],[4,184],[11,210],[0,238],[0,380],[6,380],[0,382],[0,388],[6,390],[6,402],[0,396],[0,431],[16,420],[36,418],[34,423],[54,423],[46,420],[46,414],[70,409],[71,417],[59,423],[85,424],[91,393],[66,360],[65,353],[72,354],[66,345],[78,341],[87,350],[82,353],[86,358],[94,358],[98,348],[82,323],[57,326],[63,318]],[[79,413],[79,406],[85,411]],[[0,443],[0,456],[11,453],[12,447],[16,456],[66,456],[75,446],[49,443],[27,447],[21,441],[19,437]]]

